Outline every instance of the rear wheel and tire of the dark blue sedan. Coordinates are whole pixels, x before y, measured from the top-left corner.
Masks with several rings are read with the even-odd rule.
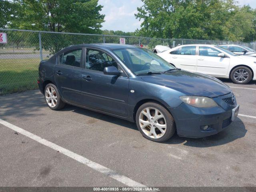
[[[66,105],[60,98],[60,92],[54,84],[47,84],[44,89],[44,98],[48,107],[52,110],[60,110]]]

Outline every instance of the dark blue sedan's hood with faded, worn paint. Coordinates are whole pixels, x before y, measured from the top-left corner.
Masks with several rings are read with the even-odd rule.
[[[164,74],[142,76],[146,82],[172,88],[190,96],[217,97],[231,92],[220,80],[184,70],[175,70]]]

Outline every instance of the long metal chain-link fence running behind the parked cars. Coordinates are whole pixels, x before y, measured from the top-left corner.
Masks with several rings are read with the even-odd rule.
[[[8,42],[0,44],[0,95],[37,88],[38,64],[62,48],[76,44],[120,43],[152,50],[156,45],[170,48],[182,44],[244,44],[251,48],[255,45],[241,42],[226,42],[191,39],[161,39],[134,36],[114,36],[102,34],[74,34],[40,32],[28,30],[0,29],[7,35]]]

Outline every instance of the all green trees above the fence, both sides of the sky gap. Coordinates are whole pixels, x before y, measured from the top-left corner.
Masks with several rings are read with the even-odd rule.
[[[2,0],[0,28],[153,38],[256,40],[256,10],[248,5],[238,6],[235,0],[142,2],[135,14],[142,20],[141,29],[134,32],[101,30],[104,15],[100,14],[103,6],[98,0]]]

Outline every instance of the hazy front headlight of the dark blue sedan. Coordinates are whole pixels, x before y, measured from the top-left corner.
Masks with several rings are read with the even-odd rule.
[[[180,96],[180,99],[191,106],[194,107],[216,107],[218,104],[208,97],[200,97],[200,96]]]

